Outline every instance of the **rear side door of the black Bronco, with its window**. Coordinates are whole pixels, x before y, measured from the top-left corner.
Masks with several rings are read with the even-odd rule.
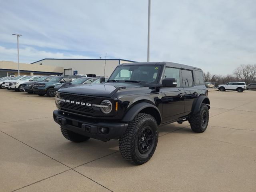
[[[185,92],[185,107],[184,116],[188,115],[192,110],[192,104],[198,97],[198,93],[194,87],[194,80],[192,70],[181,70],[182,72],[182,85]]]

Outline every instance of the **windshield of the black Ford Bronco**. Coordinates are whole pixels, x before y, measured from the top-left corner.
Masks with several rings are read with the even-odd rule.
[[[160,65],[130,65],[118,66],[110,78],[110,81],[138,81],[142,83],[156,83],[160,74]]]

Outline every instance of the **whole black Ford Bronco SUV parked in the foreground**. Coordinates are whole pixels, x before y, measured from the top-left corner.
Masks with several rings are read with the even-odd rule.
[[[118,139],[124,159],[144,164],[156,150],[158,126],[188,120],[194,132],[206,130],[207,94],[199,68],[170,62],[126,63],[118,65],[104,84],[60,88],[53,118],[66,139]]]

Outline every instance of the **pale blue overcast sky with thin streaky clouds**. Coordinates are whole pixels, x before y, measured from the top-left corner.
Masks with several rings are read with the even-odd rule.
[[[0,0],[0,60],[147,59],[148,0]],[[150,61],[256,64],[255,0],[152,0]]]

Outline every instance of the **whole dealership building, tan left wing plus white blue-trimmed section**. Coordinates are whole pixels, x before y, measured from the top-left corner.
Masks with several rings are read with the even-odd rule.
[[[20,63],[20,75],[74,75],[96,74],[109,77],[122,63],[135,62],[125,59],[54,59],[45,58],[31,64]],[[105,65],[106,64],[106,65]],[[18,76],[18,63],[0,61],[0,77]]]

